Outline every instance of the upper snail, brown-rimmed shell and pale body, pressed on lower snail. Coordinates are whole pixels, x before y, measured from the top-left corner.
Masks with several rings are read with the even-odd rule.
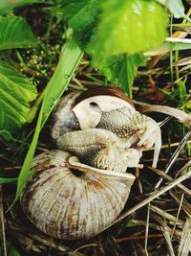
[[[139,159],[142,151],[155,145],[153,167],[157,166],[161,147],[158,123],[140,114],[131,100],[116,87],[97,86],[84,92],[71,92],[61,99],[53,113],[52,136],[61,150],[66,150],[66,133],[70,133],[67,136],[74,140],[76,130],[93,128],[116,134],[129,148],[138,151]],[[78,136],[79,134],[80,132]],[[81,133],[80,137],[82,136]],[[76,151],[69,152],[76,154]],[[132,166],[138,167],[138,161],[136,160],[134,165],[127,164],[126,167]]]

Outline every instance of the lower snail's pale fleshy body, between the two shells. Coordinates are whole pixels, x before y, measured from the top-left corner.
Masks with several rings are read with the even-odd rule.
[[[80,161],[92,167],[126,172],[128,167],[138,165],[141,149],[130,149],[131,142],[120,139],[109,130],[89,128],[63,134],[57,147],[76,155]]]

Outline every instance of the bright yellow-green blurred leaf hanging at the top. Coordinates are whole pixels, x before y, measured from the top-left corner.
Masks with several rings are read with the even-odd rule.
[[[168,17],[155,1],[107,0],[93,39],[93,61],[119,54],[136,54],[162,43]]]

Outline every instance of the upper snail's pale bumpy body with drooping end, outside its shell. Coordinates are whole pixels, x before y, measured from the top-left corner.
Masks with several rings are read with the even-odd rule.
[[[159,124],[152,118],[140,114],[132,106],[124,106],[109,112],[102,111],[96,128],[105,128],[117,137],[129,142],[128,148],[148,150],[155,144],[153,167],[157,166],[161,147]],[[138,141],[139,139],[139,141]]]

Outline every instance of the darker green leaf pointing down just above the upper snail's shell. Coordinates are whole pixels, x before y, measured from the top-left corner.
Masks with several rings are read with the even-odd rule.
[[[136,76],[138,66],[143,65],[144,58],[141,54],[119,55],[107,58],[99,64],[97,69],[108,81],[117,84],[132,98],[132,84]]]

